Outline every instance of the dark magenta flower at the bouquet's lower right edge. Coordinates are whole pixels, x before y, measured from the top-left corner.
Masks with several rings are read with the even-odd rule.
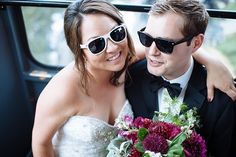
[[[193,132],[182,145],[186,157],[206,157],[207,149],[205,141],[196,132]]]

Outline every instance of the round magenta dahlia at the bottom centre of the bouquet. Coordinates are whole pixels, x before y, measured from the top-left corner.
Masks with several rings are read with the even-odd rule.
[[[149,134],[143,141],[144,150],[155,153],[166,154],[168,151],[168,143],[163,136],[157,134]]]

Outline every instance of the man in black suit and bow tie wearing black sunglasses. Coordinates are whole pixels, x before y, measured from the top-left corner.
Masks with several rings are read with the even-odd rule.
[[[192,58],[201,47],[209,15],[197,0],[159,0],[151,8],[145,28],[138,32],[146,47],[146,60],[129,70],[126,95],[135,117],[152,118],[165,112],[164,91],[189,108],[197,107],[200,134],[208,154],[236,156],[235,102],[216,90],[207,101],[206,70]],[[168,82],[167,82],[168,81]]]

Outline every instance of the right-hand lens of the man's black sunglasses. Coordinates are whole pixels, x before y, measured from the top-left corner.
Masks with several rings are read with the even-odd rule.
[[[171,54],[173,51],[173,42],[163,40],[163,39],[155,39],[155,43],[157,48],[163,53]]]

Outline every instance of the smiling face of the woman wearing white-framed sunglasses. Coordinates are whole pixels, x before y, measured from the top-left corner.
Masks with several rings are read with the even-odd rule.
[[[110,39],[111,32],[113,33],[113,36],[114,33],[117,32],[120,34],[125,33],[125,36],[119,39],[121,41],[114,42]],[[85,15],[83,18],[81,33],[83,45],[92,41],[94,42],[95,38],[97,39],[104,35],[109,36],[108,38],[105,37],[105,42],[102,38],[96,40],[94,44],[91,44],[90,50],[88,48],[83,48],[86,57],[86,66],[90,72],[114,72],[119,71],[124,67],[129,51],[125,27],[119,27],[116,21],[104,14],[89,14]],[[119,37],[120,36],[118,36],[118,38]],[[103,40],[103,42],[101,40]],[[97,54],[92,53],[91,51],[94,49],[96,50],[97,47],[102,48],[98,53],[96,52]]]

